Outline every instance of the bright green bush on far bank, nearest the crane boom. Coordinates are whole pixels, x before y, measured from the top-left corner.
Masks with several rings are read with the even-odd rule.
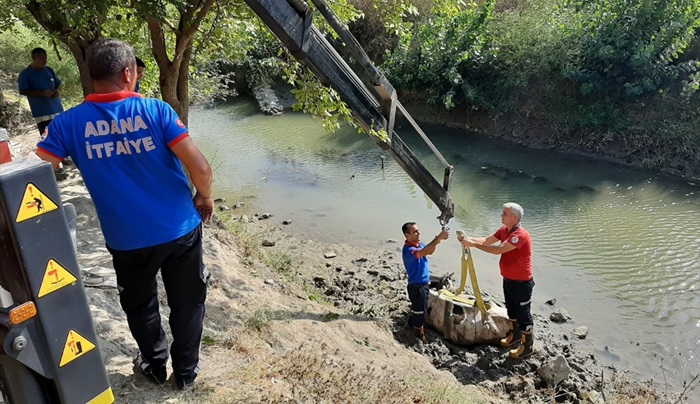
[[[431,13],[401,38],[385,63],[397,86],[426,90],[431,102],[452,109],[458,99],[469,98],[464,74],[470,65],[483,60],[487,26],[495,0],[474,2],[436,1]]]

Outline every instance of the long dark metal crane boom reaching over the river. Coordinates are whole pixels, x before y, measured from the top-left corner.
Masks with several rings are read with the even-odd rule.
[[[374,66],[349,30],[322,1],[312,0],[321,15],[345,42],[345,47],[360,66],[354,71],[326,38],[313,25],[313,10],[303,0],[245,0],[265,25],[282,41],[292,55],[303,63],[321,82],[332,87],[352,110],[355,119],[367,133],[385,131],[386,139],[371,138],[389,153],[440,209],[444,225],[454,217],[454,203],[449,189],[453,167],[398,102],[396,91]],[[443,183],[423,166],[406,143],[394,132],[396,110],[399,110],[423,137],[445,166]]]

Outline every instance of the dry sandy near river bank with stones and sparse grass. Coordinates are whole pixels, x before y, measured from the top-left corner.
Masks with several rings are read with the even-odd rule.
[[[33,128],[13,142],[25,155],[36,142]],[[309,238],[292,218],[256,215],[255,206],[238,201],[221,201],[216,220],[205,228],[205,262],[213,280],[198,387],[180,393],[171,383],[154,386],[132,373],[136,347],[116,290],[105,281],[113,275],[94,206],[77,170],[67,171],[59,185],[63,202],[78,211],[78,261],[90,269],[84,282],[95,286],[86,293],[117,402],[675,399],[661,393],[663,385],[654,390],[627,380],[623,370],[604,374],[596,357],[580,350],[569,330],[553,325],[549,313],[535,313],[538,352],[523,362],[506,360],[495,347],[454,346],[434,331],[428,343],[416,343],[405,327],[400,242],[368,250]],[[95,282],[97,273],[104,279]],[[167,309],[162,315],[167,318]],[[563,367],[543,371],[554,370],[559,356],[569,369],[566,376]]]

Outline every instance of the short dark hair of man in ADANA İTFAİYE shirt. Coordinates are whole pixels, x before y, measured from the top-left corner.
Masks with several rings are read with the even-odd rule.
[[[101,39],[87,52],[88,69],[93,80],[115,78],[127,67],[133,68],[135,63],[134,49],[117,39]]]

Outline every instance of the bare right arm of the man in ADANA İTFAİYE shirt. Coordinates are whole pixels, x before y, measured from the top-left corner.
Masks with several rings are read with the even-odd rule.
[[[170,148],[182,161],[190,173],[192,184],[197,189],[194,204],[202,220],[206,223],[214,216],[214,200],[211,196],[211,183],[214,175],[209,162],[189,136]]]

